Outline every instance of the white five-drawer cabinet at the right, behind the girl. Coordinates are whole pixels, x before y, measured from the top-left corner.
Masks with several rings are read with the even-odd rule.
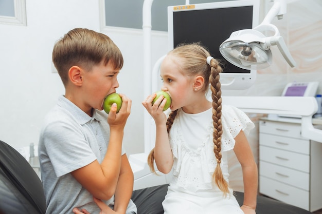
[[[259,124],[259,192],[309,211],[322,208],[322,143],[302,138],[299,120]]]

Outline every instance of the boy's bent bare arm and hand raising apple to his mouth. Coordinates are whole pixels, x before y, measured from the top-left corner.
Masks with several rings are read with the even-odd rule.
[[[71,174],[95,198],[109,200],[115,193],[121,170],[122,140],[124,126],[131,111],[131,100],[122,96],[122,107],[116,114],[112,106],[108,116],[110,142],[101,164],[97,160]],[[132,190],[132,189],[131,189]]]

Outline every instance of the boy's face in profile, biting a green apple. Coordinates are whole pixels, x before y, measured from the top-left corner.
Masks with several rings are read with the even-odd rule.
[[[83,74],[83,101],[87,103],[88,110],[92,108],[103,110],[104,98],[116,92],[119,87],[117,75],[119,70],[114,70],[113,64],[106,66],[103,62],[95,65],[92,71]]]

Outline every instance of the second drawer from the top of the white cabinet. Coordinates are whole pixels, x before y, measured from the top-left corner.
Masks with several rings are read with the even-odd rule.
[[[260,145],[270,146],[278,149],[294,151],[302,154],[310,154],[310,141],[304,139],[295,139],[281,137],[267,133],[259,134]]]

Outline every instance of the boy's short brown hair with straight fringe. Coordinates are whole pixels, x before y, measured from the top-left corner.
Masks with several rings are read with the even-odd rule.
[[[68,70],[79,66],[91,71],[101,62],[112,63],[115,70],[123,67],[123,56],[111,38],[103,33],[85,28],[70,30],[56,42],[52,50],[52,62],[66,86]]]

